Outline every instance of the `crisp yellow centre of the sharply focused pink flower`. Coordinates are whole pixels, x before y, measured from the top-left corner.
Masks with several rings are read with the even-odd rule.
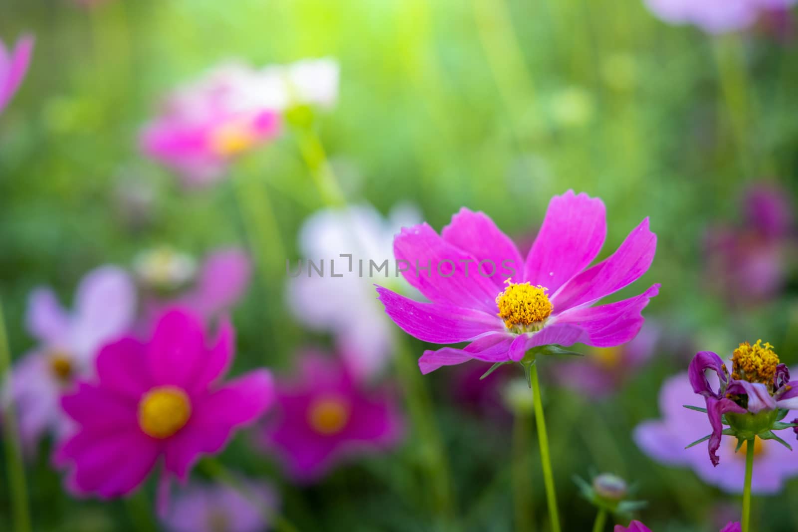
[[[551,314],[551,301],[543,286],[531,286],[529,282],[505,281],[507,288],[496,296],[499,317],[508,329],[528,333],[543,328],[543,321]]]

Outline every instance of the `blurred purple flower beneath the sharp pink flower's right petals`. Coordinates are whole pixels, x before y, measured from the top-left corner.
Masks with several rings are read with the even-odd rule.
[[[590,349],[585,357],[555,365],[555,380],[593,400],[617,392],[654,355],[660,332],[646,322],[637,337],[624,345]]]

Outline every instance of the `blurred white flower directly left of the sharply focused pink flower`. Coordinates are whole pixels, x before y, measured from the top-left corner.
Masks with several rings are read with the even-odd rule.
[[[332,278],[303,273],[289,280],[287,298],[290,309],[310,329],[334,333],[344,362],[358,378],[368,379],[385,368],[393,353],[393,325],[379,311],[373,283],[386,282],[385,273],[369,274],[369,259],[380,264],[393,257],[393,235],[401,227],[418,223],[414,207],[397,206],[383,218],[370,205],[317,211],[306,219],[299,233],[303,258],[318,264],[335,260]],[[349,261],[340,254],[352,254]],[[363,275],[358,260],[363,260]],[[401,278],[391,278],[397,290],[409,290]]]

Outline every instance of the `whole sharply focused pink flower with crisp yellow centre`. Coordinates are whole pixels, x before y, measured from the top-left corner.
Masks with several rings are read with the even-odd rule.
[[[634,338],[658,284],[634,298],[592,305],[646,273],[657,237],[644,219],[614,254],[588,268],[604,243],[604,211],[586,194],[555,196],[526,261],[488,216],[465,208],[440,235],[426,223],[403,229],[393,252],[405,279],[431,302],[377,286],[385,311],[420,340],[470,342],[426,351],[421,372],[471,359],[520,361],[543,345],[612,347]]]

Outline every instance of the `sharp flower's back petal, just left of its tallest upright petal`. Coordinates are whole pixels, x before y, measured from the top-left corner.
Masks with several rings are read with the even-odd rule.
[[[504,291],[505,278],[517,278],[523,271],[523,260],[516,244],[483,212],[473,212],[463,207],[452,216],[452,223],[440,231],[440,236],[471,254],[477,261],[487,261],[481,266],[469,265],[469,270],[472,275],[480,272],[491,275],[496,294]],[[480,270],[477,270],[478,267]],[[514,275],[513,272],[517,273]]]

